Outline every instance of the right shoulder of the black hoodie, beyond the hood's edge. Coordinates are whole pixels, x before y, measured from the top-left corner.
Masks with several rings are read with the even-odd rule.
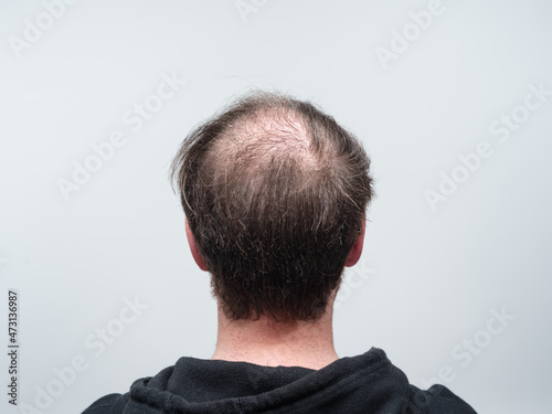
[[[410,386],[410,399],[404,414],[477,414],[468,403],[446,386],[433,385],[426,391]]]

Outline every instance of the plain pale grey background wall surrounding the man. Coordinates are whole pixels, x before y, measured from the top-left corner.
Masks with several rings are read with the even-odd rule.
[[[338,354],[382,348],[418,386],[448,365],[445,384],[481,413],[549,412],[552,96],[518,106],[529,85],[552,88],[552,4],[443,0],[420,33],[410,13],[427,1],[256,4],[242,17],[234,0],[81,0],[23,47],[29,24],[49,25],[44,4],[0,3],[0,342],[15,288],[19,403],[34,406],[76,355],[87,369],[38,412],[77,413],[181,355],[211,357],[215,302],[168,166],[194,125],[258,87],[319,104],[372,157],[378,197],[335,314]],[[382,64],[378,47],[404,30],[410,46]],[[155,100],[163,73],[187,84],[132,130],[125,114]],[[528,119],[500,142],[489,128],[512,110]],[[114,131],[126,145],[66,200],[60,179]],[[427,190],[482,141],[492,156],[457,169],[465,182],[432,211]],[[148,308],[96,357],[86,338],[135,297]],[[514,316],[497,335],[492,309]],[[0,407],[20,412],[6,392]]]

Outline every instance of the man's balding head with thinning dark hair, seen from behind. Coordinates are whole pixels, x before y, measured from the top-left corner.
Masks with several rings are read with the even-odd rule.
[[[227,318],[323,314],[362,251],[369,168],[332,117],[283,95],[250,94],[189,134],[171,176]]]

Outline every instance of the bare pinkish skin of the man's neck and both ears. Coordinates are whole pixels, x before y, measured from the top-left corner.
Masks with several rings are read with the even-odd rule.
[[[364,221],[346,261],[346,267],[354,266],[362,254]],[[208,272],[193,234],[185,221],[185,233],[190,251],[198,266]],[[299,321],[284,325],[268,317],[252,320],[230,320],[221,310],[219,301],[219,326],[216,348],[211,359],[243,361],[265,367],[304,367],[319,370],[339,357],[333,347],[332,314],[337,290],[330,296],[322,317],[316,322]]]

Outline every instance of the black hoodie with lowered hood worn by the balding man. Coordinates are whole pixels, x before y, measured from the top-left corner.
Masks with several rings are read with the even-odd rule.
[[[320,370],[181,358],[83,414],[475,414],[442,385],[421,391],[378,348]]]

